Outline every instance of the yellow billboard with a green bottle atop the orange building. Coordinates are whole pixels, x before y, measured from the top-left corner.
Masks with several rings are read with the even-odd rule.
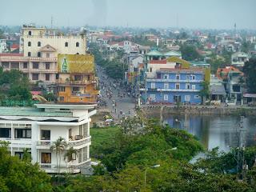
[[[58,73],[93,73],[94,56],[58,54]]]

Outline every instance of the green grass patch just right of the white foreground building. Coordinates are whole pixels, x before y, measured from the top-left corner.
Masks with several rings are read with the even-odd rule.
[[[90,128],[91,146],[90,156],[98,158],[102,148],[108,143],[114,142],[115,135],[118,134],[120,128],[118,126],[107,126],[101,128]]]

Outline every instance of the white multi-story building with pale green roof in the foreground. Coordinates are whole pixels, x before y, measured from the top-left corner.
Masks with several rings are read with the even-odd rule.
[[[12,155],[22,158],[23,150],[31,152],[32,162],[47,173],[78,173],[90,163],[90,116],[96,105],[36,104],[36,107],[0,107],[0,140],[10,142]],[[56,151],[50,146],[59,137],[67,146],[57,166]],[[72,161],[64,160],[73,147]]]

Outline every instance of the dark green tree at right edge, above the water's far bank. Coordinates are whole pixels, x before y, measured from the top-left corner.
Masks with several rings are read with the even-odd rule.
[[[256,58],[250,58],[242,68],[246,78],[246,86],[251,94],[256,94]]]

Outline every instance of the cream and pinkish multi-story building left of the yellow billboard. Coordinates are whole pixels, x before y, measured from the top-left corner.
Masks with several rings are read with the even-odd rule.
[[[58,54],[86,54],[86,36],[62,35],[46,28],[23,27],[20,54],[0,54],[4,70],[21,70],[31,82],[56,81]]]

